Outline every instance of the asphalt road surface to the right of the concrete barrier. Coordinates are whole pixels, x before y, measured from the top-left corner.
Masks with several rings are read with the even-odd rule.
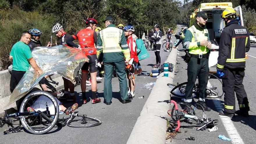
[[[177,58],[177,75],[174,79],[174,83],[182,83],[187,81],[187,64],[184,62],[181,56],[185,53],[180,51],[179,57]],[[254,136],[256,135],[256,108],[255,108],[255,83],[256,83],[256,73],[255,73],[255,63],[256,63],[256,45],[252,44],[250,51],[248,52],[248,59],[246,60],[246,71],[243,84],[248,95],[248,100],[250,103],[249,117],[244,118],[241,116],[235,116],[234,118],[229,118],[225,116],[219,116],[219,110],[223,109],[224,96],[221,99],[207,99],[207,105],[212,109],[210,112],[206,112],[207,117],[211,119],[218,119],[217,123],[218,130],[214,132],[207,131],[196,131],[193,128],[184,128],[189,124],[183,122],[181,123],[182,128],[181,133],[177,134],[175,138],[183,139],[190,136],[195,137],[195,141],[188,141],[187,143],[256,143]],[[211,67],[210,71],[216,71],[216,67]],[[211,81],[210,81],[211,82]],[[214,85],[215,83],[211,83]],[[218,86],[221,88],[221,86]],[[176,99],[180,101],[180,99]],[[197,101],[198,99],[194,99]],[[236,109],[239,109],[238,103],[236,102]],[[225,135],[227,138],[232,138],[233,141],[224,141],[218,138],[218,135]],[[184,141],[185,142],[185,141]],[[173,140],[173,143],[181,143],[181,140]]]

